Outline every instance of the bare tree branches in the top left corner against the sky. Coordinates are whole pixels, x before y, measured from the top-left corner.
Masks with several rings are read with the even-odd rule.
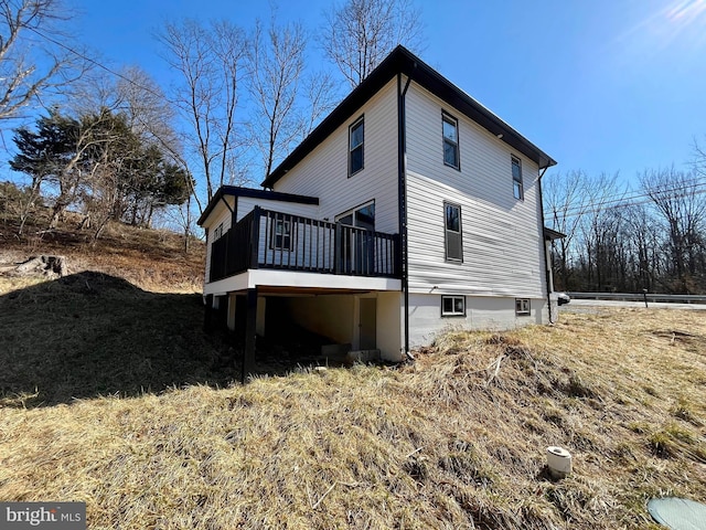
[[[60,0],[0,0],[0,119],[47,92],[64,92],[87,68],[60,31],[71,18]]]

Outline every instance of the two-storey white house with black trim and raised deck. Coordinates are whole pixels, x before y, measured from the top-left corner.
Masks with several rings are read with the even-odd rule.
[[[256,335],[297,325],[400,360],[448,327],[553,318],[542,176],[556,162],[398,46],[271,174],[223,187],[204,296]]]

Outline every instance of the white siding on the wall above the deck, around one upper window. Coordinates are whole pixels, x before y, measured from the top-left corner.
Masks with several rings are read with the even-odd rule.
[[[349,127],[365,116],[364,168],[349,177]],[[276,184],[286,193],[318,197],[320,219],[375,200],[375,230],[398,232],[397,97],[393,80],[353,113]]]

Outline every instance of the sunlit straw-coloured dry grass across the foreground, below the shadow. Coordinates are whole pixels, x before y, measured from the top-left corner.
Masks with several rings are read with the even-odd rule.
[[[703,314],[612,310],[397,369],[6,407],[0,498],[86,501],[92,529],[656,529],[650,497],[706,500],[705,356]]]

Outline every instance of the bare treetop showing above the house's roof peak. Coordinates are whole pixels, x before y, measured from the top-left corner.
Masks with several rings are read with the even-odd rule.
[[[351,86],[357,86],[397,44],[421,47],[421,13],[411,0],[346,0],[324,13],[320,43]]]

